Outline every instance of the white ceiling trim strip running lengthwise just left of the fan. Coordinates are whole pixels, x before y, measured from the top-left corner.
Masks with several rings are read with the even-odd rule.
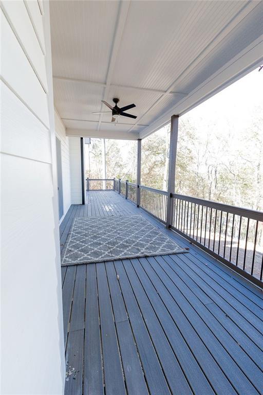
[[[103,100],[106,100],[107,96],[108,96],[110,82],[111,82],[112,74],[114,73],[114,67],[115,67],[117,56],[118,56],[118,52],[119,52],[119,48],[120,48],[120,44],[121,44],[121,40],[122,40],[122,34],[123,34],[125,22],[126,22],[128,11],[129,11],[129,5],[130,5],[130,0],[127,0],[125,2],[120,2],[120,5],[119,5],[118,22],[117,22],[115,35],[114,35],[114,42],[113,42],[112,50],[111,50],[111,54],[110,54],[110,60],[109,60],[107,78],[106,78],[106,86],[105,86],[104,94],[103,94]],[[101,111],[102,111],[102,105],[101,105]],[[102,114],[100,114],[97,130],[100,130],[101,120],[102,120]]]

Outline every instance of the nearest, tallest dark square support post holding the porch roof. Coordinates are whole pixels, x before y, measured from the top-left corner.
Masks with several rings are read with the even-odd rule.
[[[166,228],[169,228],[172,224],[172,213],[173,213],[172,193],[175,192],[175,165],[176,165],[176,152],[177,152],[177,140],[178,140],[178,118],[179,118],[178,115],[172,115],[171,117]]]

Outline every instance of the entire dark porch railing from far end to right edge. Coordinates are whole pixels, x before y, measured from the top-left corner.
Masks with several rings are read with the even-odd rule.
[[[91,185],[90,181],[100,183]],[[107,181],[106,189],[115,190],[167,227],[263,287],[263,212],[177,193],[168,196],[166,191],[117,178],[89,180],[89,185],[92,190],[101,190],[103,181]],[[167,223],[168,199],[172,205],[172,220]]]

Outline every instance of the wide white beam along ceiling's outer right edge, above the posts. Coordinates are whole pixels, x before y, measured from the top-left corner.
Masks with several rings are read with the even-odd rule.
[[[231,85],[239,78],[253,71],[263,62],[263,36],[251,43],[246,49],[231,59],[226,65],[216,71],[211,77],[200,84],[193,92],[182,98],[172,109],[154,121],[140,132],[140,138],[145,138],[170,122],[172,115],[189,112],[197,105],[214,96],[222,89]]]

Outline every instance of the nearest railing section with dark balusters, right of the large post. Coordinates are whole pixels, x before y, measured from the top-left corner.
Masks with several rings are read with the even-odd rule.
[[[171,228],[262,281],[263,213],[172,193]]]

